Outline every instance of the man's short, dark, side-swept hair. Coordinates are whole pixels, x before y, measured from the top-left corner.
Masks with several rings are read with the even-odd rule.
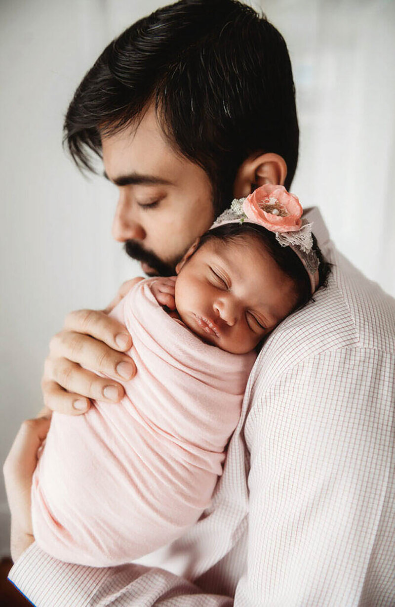
[[[265,15],[236,0],[181,0],[135,22],[87,72],[64,121],[79,168],[101,156],[100,133],[115,134],[155,103],[174,148],[208,174],[215,210],[233,197],[237,169],[275,152],[289,189],[299,127],[288,49]]]

